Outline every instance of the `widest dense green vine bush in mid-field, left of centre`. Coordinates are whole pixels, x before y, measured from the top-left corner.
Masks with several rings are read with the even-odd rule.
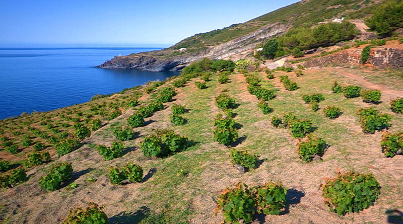
[[[140,149],[146,157],[168,156],[185,150],[187,146],[188,139],[171,130],[150,134],[140,143]]]

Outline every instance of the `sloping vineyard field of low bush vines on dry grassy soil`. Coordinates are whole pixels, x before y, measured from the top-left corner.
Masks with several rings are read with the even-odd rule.
[[[245,216],[239,214],[245,220],[270,223],[399,220],[392,210],[403,209],[403,157],[394,153],[385,156],[380,145],[382,132],[378,130],[385,131],[388,126],[391,133],[403,130],[403,115],[393,112],[389,103],[403,97],[403,91],[361,82],[360,72],[337,67],[304,69],[297,77],[294,72],[270,71],[274,75],[270,80],[265,72],[245,75],[235,72],[227,74],[228,81],[223,84],[218,81],[223,75],[213,73],[210,78],[202,79],[191,74],[86,104],[3,121],[2,143],[11,143],[2,148],[17,145],[18,150],[15,155],[0,151],[0,157],[10,161],[10,171],[5,174],[24,167],[27,178],[0,192],[0,217],[5,223],[59,223],[70,209],[95,202],[104,205],[104,209],[94,205],[91,209],[103,210],[111,223],[220,223],[224,218],[231,221],[234,217],[229,215],[228,208],[227,213],[222,211],[225,207],[222,205],[228,202],[225,193],[237,192],[253,198],[248,201],[248,209],[243,210]],[[365,77],[378,77],[379,72],[367,70]],[[288,79],[282,78],[280,82],[279,77],[285,76]],[[172,84],[179,79],[185,79],[184,84],[173,88]],[[380,102],[346,98],[346,91],[333,93],[334,81],[342,89],[358,86],[362,90],[380,90]],[[196,82],[206,86],[198,88],[200,84]],[[385,77],[382,83],[403,85],[393,77]],[[295,88],[287,88],[291,85]],[[221,94],[228,96],[220,97],[224,100],[218,103]],[[178,106],[171,110],[173,105],[182,105],[185,110]],[[370,106],[371,111],[366,111],[369,115],[357,114],[360,108]],[[113,115],[115,112],[117,117]],[[365,116],[371,115],[382,119],[376,117],[380,124],[364,133],[363,128],[368,130]],[[274,116],[278,117],[277,123],[272,122]],[[91,124],[96,123],[94,119],[100,119],[99,129],[91,129]],[[38,130],[37,134],[34,130]],[[68,134],[59,136],[58,132]],[[54,136],[55,142],[40,136],[43,133]],[[235,133],[237,137],[233,138]],[[25,139],[31,139],[31,146],[21,146],[25,135]],[[59,142],[70,138],[80,143],[68,150],[72,152],[59,153],[61,157],[57,158],[54,148],[57,150]],[[111,147],[117,138],[122,140],[123,148],[117,145],[120,141]],[[34,145],[39,142],[44,148],[39,145],[37,151],[49,152],[51,162],[22,166],[22,160],[35,151]],[[243,169],[234,167],[239,160],[246,161]],[[41,178],[46,175],[58,178],[48,171],[61,162],[70,163],[73,171],[69,173],[69,166],[63,167],[66,178],[60,179],[59,189],[45,191],[39,185]],[[331,201],[331,193],[323,195],[324,202],[323,189],[331,192],[332,184],[345,178],[345,173],[357,178],[354,179],[357,183],[363,183],[359,181],[361,178],[371,182],[365,182],[365,187],[373,193],[368,193],[371,197],[359,210],[368,208],[359,213],[346,212],[348,203],[346,208],[343,205],[338,208]],[[335,177],[339,179],[328,179]],[[237,182],[247,186],[237,185],[233,190]],[[265,199],[271,192],[275,192],[276,202]]]

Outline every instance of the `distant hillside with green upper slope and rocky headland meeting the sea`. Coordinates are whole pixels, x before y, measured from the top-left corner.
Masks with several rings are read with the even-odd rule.
[[[324,20],[341,17],[363,18],[371,14],[380,2],[382,1],[304,0],[245,23],[195,34],[160,51],[116,56],[99,67],[178,70],[203,57],[220,59],[251,50],[264,39],[281,35],[295,26],[313,26]],[[180,48],[186,50],[180,51]]]

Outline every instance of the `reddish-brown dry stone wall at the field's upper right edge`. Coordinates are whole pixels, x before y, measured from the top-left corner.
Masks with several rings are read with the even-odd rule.
[[[327,65],[358,65],[360,64],[362,48],[351,48],[323,57],[311,58],[298,64],[305,67],[323,67]],[[391,47],[371,48],[367,64],[379,68],[403,68],[403,49]],[[298,65],[294,64],[294,66]],[[286,62],[290,66],[290,63]]]

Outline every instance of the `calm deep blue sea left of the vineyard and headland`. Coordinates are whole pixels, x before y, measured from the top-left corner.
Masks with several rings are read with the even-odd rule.
[[[112,57],[161,48],[0,48],[0,119],[87,102],[177,72],[102,69]]]

